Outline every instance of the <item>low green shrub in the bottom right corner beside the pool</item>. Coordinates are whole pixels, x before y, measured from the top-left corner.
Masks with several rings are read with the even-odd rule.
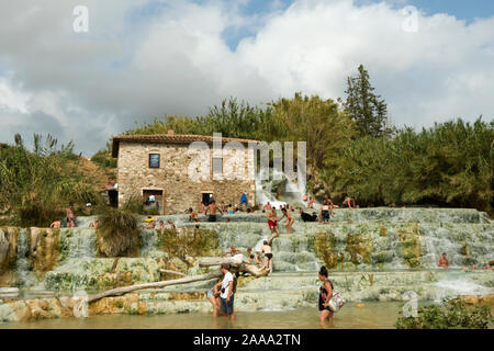
[[[491,320],[489,306],[468,306],[460,297],[445,298],[440,305],[418,307],[417,317],[405,317],[400,312],[398,329],[487,329]]]

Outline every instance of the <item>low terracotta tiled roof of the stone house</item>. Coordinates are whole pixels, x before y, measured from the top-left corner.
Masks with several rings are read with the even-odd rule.
[[[112,157],[119,156],[120,141],[125,143],[150,143],[150,144],[189,144],[192,141],[213,143],[213,136],[193,135],[193,134],[151,134],[151,135],[116,135],[113,137]],[[259,140],[225,138],[222,137],[223,144],[229,141],[239,141],[242,144],[259,143]]]

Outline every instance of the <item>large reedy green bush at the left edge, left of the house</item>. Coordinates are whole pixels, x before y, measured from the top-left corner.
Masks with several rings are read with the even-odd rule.
[[[57,147],[50,135],[34,135],[30,151],[15,135],[14,146],[0,148],[0,208],[19,226],[48,226],[69,203],[96,204],[93,182],[81,172],[72,143]]]

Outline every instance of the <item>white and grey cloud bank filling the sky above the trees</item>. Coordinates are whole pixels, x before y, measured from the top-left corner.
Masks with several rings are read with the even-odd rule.
[[[90,155],[136,120],[204,114],[229,95],[343,97],[359,64],[398,125],[494,114],[494,18],[419,13],[406,33],[388,2],[301,0],[263,16],[242,14],[242,1],[164,1],[154,15],[144,0],[85,3],[87,34],[71,31],[78,1],[2,5],[0,140],[36,127]],[[232,52],[225,33],[249,26],[257,34]]]

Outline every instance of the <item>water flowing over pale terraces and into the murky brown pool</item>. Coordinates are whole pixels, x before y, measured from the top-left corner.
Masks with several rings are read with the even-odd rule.
[[[294,190],[294,185],[289,188]],[[209,314],[211,306],[204,298],[170,299],[173,293],[203,294],[214,283],[209,281],[141,292],[139,301],[146,316],[42,320],[22,324],[22,327],[57,328],[63,324],[66,328],[318,328],[315,306],[321,283],[317,270],[332,262],[336,264],[330,267],[330,279],[348,302],[337,314],[335,328],[393,327],[403,294],[411,291],[417,293],[420,302],[494,294],[494,272],[472,270],[473,264],[483,267],[494,260],[494,225],[484,213],[461,208],[338,208],[328,225],[303,223],[299,215],[294,216],[293,233],[287,234],[281,223],[281,236],[272,244],[273,274],[247,281],[238,287],[235,301],[238,319],[234,326],[213,319]],[[235,245],[258,251],[271,234],[266,214],[261,212],[218,216],[217,223],[207,223],[202,215],[200,218],[200,228],[214,230],[223,250]],[[55,244],[50,244],[54,248],[38,248],[40,254],[52,249],[57,251],[58,261],[45,272],[36,271],[40,262],[37,265],[33,262],[38,259],[30,257],[32,230],[19,230],[14,265],[14,286],[21,288],[19,298],[70,295],[77,291],[89,293],[113,287],[124,279],[132,283],[160,280],[157,261],[167,253],[159,247],[156,231],[143,230],[138,257],[121,258],[115,265],[114,259],[97,256],[96,231],[89,228],[93,219],[79,218],[78,228],[59,230]],[[158,216],[157,219],[165,223],[171,219],[180,230],[195,227],[187,215]],[[46,235],[52,233],[43,230]],[[338,260],[332,261],[323,251],[335,253]],[[451,263],[449,270],[437,268],[442,252]],[[469,270],[463,271],[467,267]],[[203,272],[197,262],[186,269],[189,275]],[[119,284],[128,283],[124,280]],[[356,303],[367,307],[359,308]],[[0,302],[0,320],[2,314],[12,316],[4,306]],[[165,313],[170,315],[164,316]],[[1,325],[2,328],[20,325]]]

